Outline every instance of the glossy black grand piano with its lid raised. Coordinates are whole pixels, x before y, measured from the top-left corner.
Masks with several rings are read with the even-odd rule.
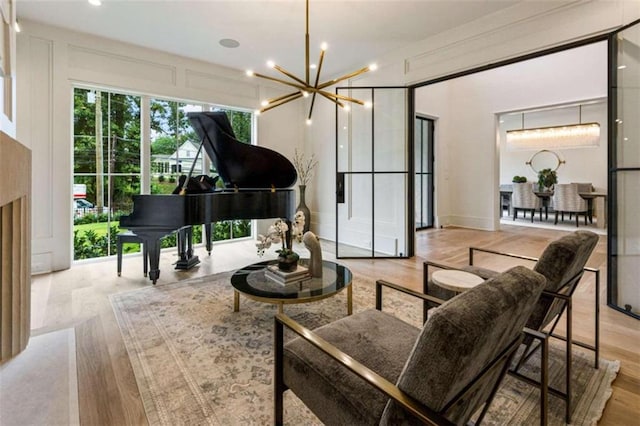
[[[224,188],[200,193],[181,191],[172,195],[133,196],[133,211],[129,216],[120,217],[120,227],[129,229],[146,244],[149,279],[154,284],[160,276],[160,240],[164,236],[178,232],[180,260],[176,267],[188,269],[199,262],[193,254],[191,226],[205,225],[210,252],[212,222],[291,218],[294,213],[295,194],[289,188],[295,183],[297,173],[286,157],[238,141],[224,112],[192,112],[188,118],[201,140],[198,152],[204,147]],[[184,190],[189,188],[189,183],[187,178]]]

